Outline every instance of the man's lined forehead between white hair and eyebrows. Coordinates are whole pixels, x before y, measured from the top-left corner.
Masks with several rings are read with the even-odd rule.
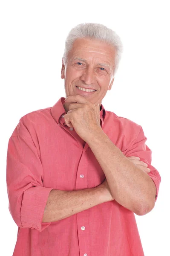
[[[86,60],[114,62],[115,49],[105,42],[87,38],[75,40],[69,52],[69,58],[82,58]]]

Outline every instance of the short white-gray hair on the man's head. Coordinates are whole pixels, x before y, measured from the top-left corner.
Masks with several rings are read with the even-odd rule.
[[[115,63],[114,72],[118,70],[119,62],[121,60],[121,53],[123,52],[123,45],[120,37],[107,26],[99,23],[81,23],[72,28],[67,35],[65,41],[65,49],[63,54],[63,64],[66,64],[69,51],[72,49],[73,43],[78,38],[92,38],[103,41],[112,47],[114,47],[115,53]]]

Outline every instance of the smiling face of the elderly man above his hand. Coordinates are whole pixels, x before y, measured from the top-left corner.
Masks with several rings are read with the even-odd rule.
[[[61,78],[64,79],[66,97],[80,94],[97,105],[111,90],[114,80],[115,49],[108,44],[78,38],[69,51],[66,66],[62,64]],[[78,87],[96,90],[85,92]]]

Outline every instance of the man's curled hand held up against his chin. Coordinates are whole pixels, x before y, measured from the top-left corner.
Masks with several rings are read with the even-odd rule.
[[[72,102],[69,111],[64,116],[65,123],[73,127],[82,140],[86,141],[89,136],[100,132],[100,107],[89,102],[84,96],[70,95],[65,102]]]

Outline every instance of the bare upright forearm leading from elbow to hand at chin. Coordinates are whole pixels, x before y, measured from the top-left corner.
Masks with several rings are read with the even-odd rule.
[[[150,176],[125,157],[104,132],[96,132],[87,143],[104,171],[115,201],[138,215],[150,211],[156,195]]]

